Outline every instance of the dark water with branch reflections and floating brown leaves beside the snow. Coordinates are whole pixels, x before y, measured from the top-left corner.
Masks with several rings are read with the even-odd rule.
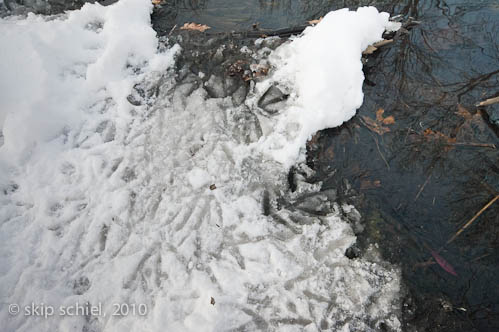
[[[6,3],[18,13],[82,4]],[[499,192],[499,106],[474,106],[499,95],[497,1],[170,0],[153,25],[159,34],[185,22],[212,32],[272,30],[361,5],[420,24],[368,58],[358,116],[309,142],[310,181],[351,193],[341,199],[362,210],[359,246],[377,243],[402,267],[405,330],[499,331],[499,201],[446,244]]]

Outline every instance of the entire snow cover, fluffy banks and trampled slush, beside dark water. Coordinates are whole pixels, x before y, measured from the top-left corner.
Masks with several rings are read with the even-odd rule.
[[[311,131],[358,107],[359,54],[389,26],[387,16],[332,13],[344,26],[326,17],[277,50],[277,69],[254,99],[272,81],[294,96],[273,118],[258,116],[270,124],[259,139],[238,118],[244,111],[253,119],[251,100],[249,109],[236,107],[188,78],[176,81],[181,50],[158,51],[150,10],[149,1],[122,0],[58,18],[0,20],[3,330],[370,331],[380,322],[397,330],[398,269],[375,248],[369,258],[344,255],[355,242],[355,208],[318,192],[320,184],[285,189],[286,165],[299,160]],[[309,81],[335,96],[312,102],[311,88],[298,82],[311,79],[300,66],[316,56],[302,54],[304,45],[339,28],[349,38],[331,45],[344,42],[352,58],[335,49],[331,62],[348,65],[353,74],[343,80],[355,85],[344,94],[327,78]],[[273,207],[266,216],[265,195],[312,197],[301,204],[326,213]],[[10,315],[6,305],[87,301],[106,315],[42,319]],[[145,304],[147,315],[113,316],[114,303]]]

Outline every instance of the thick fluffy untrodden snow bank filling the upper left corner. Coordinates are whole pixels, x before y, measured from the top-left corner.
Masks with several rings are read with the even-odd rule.
[[[67,17],[46,21],[0,20],[0,128],[4,153],[19,157],[36,142],[82,123],[88,108],[112,98],[126,117],[126,101],[140,72],[165,68],[149,26],[151,4],[86,4]],[[5,122],[5,123],[4,123]],[[120,125],[120,124],[119,124]]]

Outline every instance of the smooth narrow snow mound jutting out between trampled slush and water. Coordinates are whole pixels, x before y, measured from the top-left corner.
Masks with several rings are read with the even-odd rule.
[[[291,97],[258,148],[290,167],[311,135],[352,118],[363,101],[362,52],[385,30],[399,28],[388,19],[374,7],[337,10],[279,47],[271,56],[276,71],[257,86],[257,95],[277,84]]]

